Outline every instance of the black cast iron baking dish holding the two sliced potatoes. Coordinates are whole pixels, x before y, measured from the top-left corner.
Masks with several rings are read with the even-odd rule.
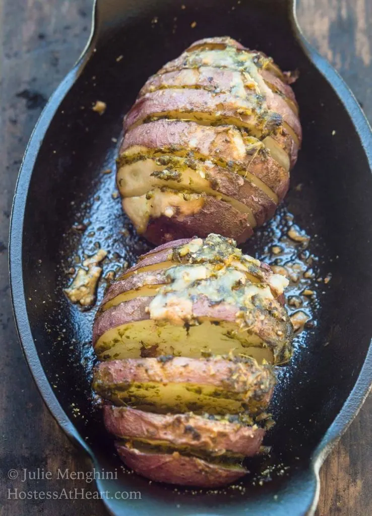
[[[58,423],[97,471],[118,473],[117,480],[97,481],[99,491],[109,491],[111,514],[313,514],[319,467],[370,388],[372,136],[352,93],[304,40],[294,7],[289,0],[98,0],[89,44],[28,144],[11,222],[15,319]],[[319,283],[312,325],[296,338],[292,363],[280,369],[272,404],[277,424],[266,438],[271,455],[251,461],[251,473],[235,488],[175,491],[120,466],[90,391],[94,310],[79,311],[62,288],[84,252],[107,249],[106,272],[149,249],[112,198],[115,173],[102,171],[115,167],[123,115],[147,77],[192,41],[222,35],[300,73],[294,89],[304,136],[291,189],[244,250],[267,257],[293,220],[311,237],[317,276],[331,281]],[[96,100],[107,104],[102,116],[91,109]],[[84,233],[71,229],[78,223],[88,224]],[[141,499],[116,499],[117,491],[140,491]]]

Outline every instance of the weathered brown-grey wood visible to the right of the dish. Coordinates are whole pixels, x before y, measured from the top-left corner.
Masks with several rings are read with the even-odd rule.
[[[346,80],[372,122],[372,2],[298,0],[305,36]],[[372,395],[320,472],[317,516],[372,514]]]

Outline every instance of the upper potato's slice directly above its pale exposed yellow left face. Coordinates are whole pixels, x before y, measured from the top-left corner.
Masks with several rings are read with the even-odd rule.
[[[195,158],[246,176],[276,203],[288,189],[288,171],[265,151],[260,140],[246,137],[232,126],[212,127],[178,120],[149,122],[126,133],[120,155],[126,151],[125,163],[128,155],[136,156],[147,149],[171,149],[172,155],[192,152]],[[119,163],[124,164],[121,158]]]

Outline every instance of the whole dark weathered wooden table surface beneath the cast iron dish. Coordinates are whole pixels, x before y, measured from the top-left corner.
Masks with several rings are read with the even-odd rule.
[[[298,0],[305,35],[341,73],[372,121],[372,1]],[[8,226],[27,140],[48,96],[82,51],[90,0],[0,0],[0,516],[106,514],[101,502],[8,499],[13,491],[67,491],[76,480],[8,479],[11,469],[88,471],[90,464],[44,407],[15,334]],[[318,516],[372,514],[372,396],[321,470]]]

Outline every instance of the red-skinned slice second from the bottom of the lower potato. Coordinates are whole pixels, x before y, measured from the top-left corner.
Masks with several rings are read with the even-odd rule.
[[[252,457],[260,450],[265,430],[193,414],[155,414],[104,405],[106,430],[118,438],[166,441],[215,455],[224,450]]]

